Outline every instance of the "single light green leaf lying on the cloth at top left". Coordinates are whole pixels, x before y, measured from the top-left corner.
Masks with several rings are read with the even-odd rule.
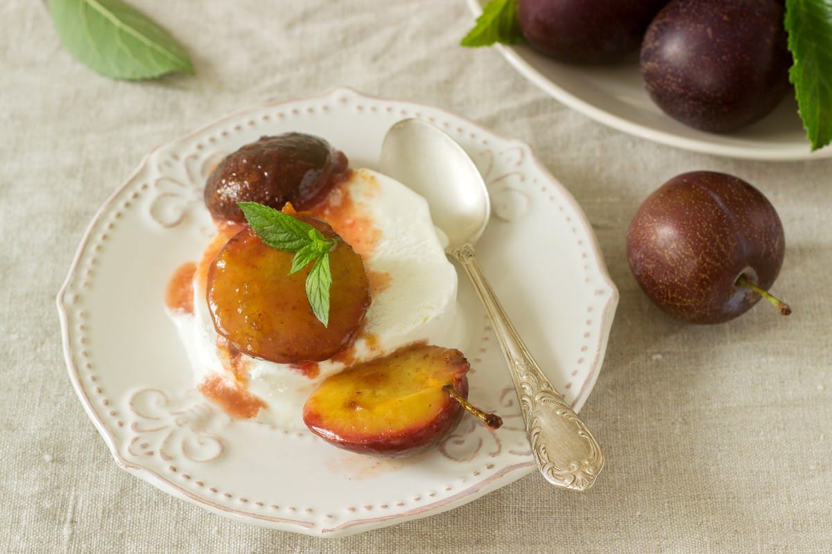
[[[52,23],[72,56],[113,79],[193,73],[191,58],[165,29],[121,0],[47,0]]]

